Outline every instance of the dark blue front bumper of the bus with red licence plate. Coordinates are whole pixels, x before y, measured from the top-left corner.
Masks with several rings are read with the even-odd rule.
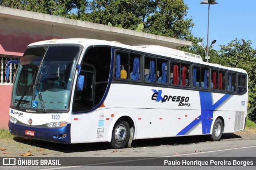
[[[19,125],[12,122],[8,122],[10,133],[14,136],[24,137],[28,139],[36,139],[41,141],[49,141],[54,143],[70,144],[70,127],[71,124],[67,124],[64,127],[33,127],[26,125]],[[27,135],[26,135],[27,134]]]

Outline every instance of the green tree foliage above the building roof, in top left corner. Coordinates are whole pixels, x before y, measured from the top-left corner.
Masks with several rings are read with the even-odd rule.
[[[69,18],[74,9],[84,14],[87,5],[88,0],[0,0],[0,6]]]

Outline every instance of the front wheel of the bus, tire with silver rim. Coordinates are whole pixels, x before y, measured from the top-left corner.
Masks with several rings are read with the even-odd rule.
[[[114,125],[112,139],[109,146],[112,149],[122,149],[126,147],[130,137],[130,126],[127,121],[118,121]]]

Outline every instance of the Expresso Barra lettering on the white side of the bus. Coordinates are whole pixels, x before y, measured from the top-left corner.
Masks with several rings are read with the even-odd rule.
[[[170,96],[170,95],[164,95],[164,97],[162,97],[162,90],[154,90],[152,89],[152,91],[154,92],[152,94],[151,100],[154,100],[156,102],[178,102],[178,106],[190,106],[190,103],[188,103],[189,101],[189,97],[186,96]]]

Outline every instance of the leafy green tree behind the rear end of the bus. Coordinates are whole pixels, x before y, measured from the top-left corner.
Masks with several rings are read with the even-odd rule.
[[[220,58],[230,67],[242,68],[248,73],[248,106],[256,99],[256,50],[251,47],[252,42],[244,39],[230,41],[227,46],[220,45]],[[252,113],[256,116],[256,110]]]

